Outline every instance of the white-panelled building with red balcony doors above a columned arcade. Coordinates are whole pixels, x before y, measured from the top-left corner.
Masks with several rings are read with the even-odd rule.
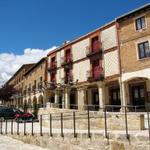
[[[117,35],[113,21],[48,54],[50,103],[79,110],[121,105]],[[117,99],[112,99],[114,93]]]

